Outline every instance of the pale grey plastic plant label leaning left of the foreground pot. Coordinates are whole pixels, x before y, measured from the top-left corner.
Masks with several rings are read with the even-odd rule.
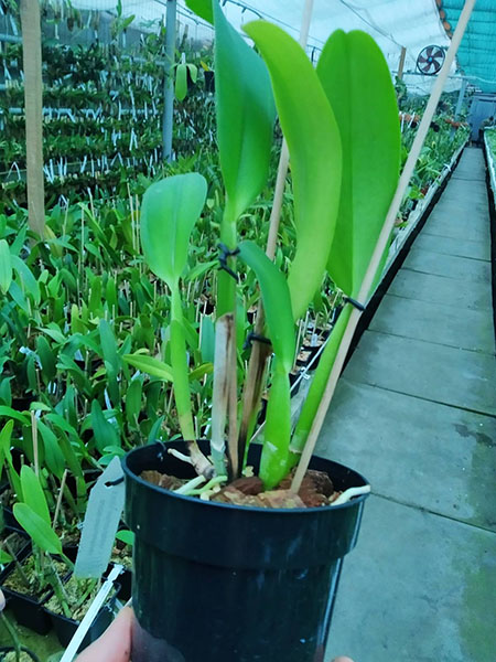
[[[98,578],[107,569],[123,504],[123,472],[116,457],[89,494],[74,570],[76,577]]]

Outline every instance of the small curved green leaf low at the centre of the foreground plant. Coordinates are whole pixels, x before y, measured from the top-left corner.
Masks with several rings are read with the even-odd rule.
[[[241,242],[239,256],[257,275],[272,348],[284,370],[289,372],[294,359],[295,340],[291,299],[285,278],[254,242]]]

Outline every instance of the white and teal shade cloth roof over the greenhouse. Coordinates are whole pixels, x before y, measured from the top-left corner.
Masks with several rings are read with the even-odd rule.
[[[123,13],[134,14],[137,21],[160,19],[165,13],[166,0],[121,2]],[[80,9],[115,11],[117,0],[73,0],[72,3]],[[180,22],[190,23],[193,34],[200,39],[212,38],[211,29],[188,13],[184,0],[177,0],[177,3]],[[303,4],[304,0],[226,0],[224,8],[227,18],[238,29],[244,22],[260,15],[280,23],[296,36]],[[337,28],[365,30],[378,42],[391,72],[398,68],[401,46],[407,49],[405,81],[410,90],[425,94],[430,92],[434,76],[421,75],[417,71],[417,57],[425,46],[434,44],[446,49],[450,45],[446,21],[454,29],[462,6],[463,0],[314,0],[309,53],[317,56],[327,36]],[[477,76],[477,85],[481,86],[482,78],[496,78],[496,0],[477,0],[475,12],[463,41],[460,64],[466,74]],[[456,68],[453,65],[452,77],[445,87],[448,92],[461,86]]]

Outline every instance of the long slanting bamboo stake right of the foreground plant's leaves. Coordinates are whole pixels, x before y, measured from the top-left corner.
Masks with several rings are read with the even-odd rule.
[[[368,293],[370,291],[370,287],[373,285],[375,275],[377,273],[377,268],[379,266],[381,256],[386,249],[389,236],[391,234],[395,221],[397,218],[399,209],[401,206],[401,202],[403,200],[403,195],[407,191],[407,186],[410,182],[411,175],[413,174],[413,170],[417,163],[417,160],[420,156],[420,151],[422,149],[423,142],[425,140],[425,136],[429,131],[429,127],[432,121],[432,117],[434,115],[435,108],[438,106],[439,99],[441,97],[441,93],[443,90],[444,84],[446,82],[448,75],[450,73],[450,67],[454,61],[456,55],[456,51],[459,50],[460,43],[462,41],[463,34],[465,32],[466,25],[468,23],[468,19],[471,18],[472,10],[474,9],[476,0],[466,0],[463,11],[460,15],[459,23],[456,25],[456,30],[453,34],[453,39],[451,45],[448,50],[446,57],[444,60],[444,64],[439,73],[438,79],[434,83],[434,86],[431,92],[431,96],[429,98],[428,105],[425,107],[425,113],[423,114],[422,120],[420,122],[419,129],[416,134],[413,145],[411,146],[410,153],[408,154],[407,162],[405,164],[403,171],[398,182],[398,188],[396,190],[395,196],[392,197],[392,202],[389,206],[389,211],[386,216],[386,221],[382,225],[382,229],[380,231],[379,238],[377,241],[376,247],[374,249],[373,256],[370,258],[367,271],[364,277],[364,281],[360,287],[360,291],[358,295],[358,301],[365,301],[368,298]],[[347,306],[351,306],[347,303]],[[306,473],[306,469],[309,468],[310,460],[312,458],[316,440],[322,429],[322,425],[324,423],[325,415],[327,413],[328,406],[334,395],[334,391],[336,388],[337,380],[341,375],[341,371],[343,369],[346,355],[348,353],[349,345],[352,344],[353,335],[355,333],[355,329],[357,327],[358,320],[360,317],[360,311],[356,308],[353,309],[352,314],[348,320],[348,324],[346,327],[346,331],[344,332],[343,340],[339,345],[339,350],[336,355],[336,360],[334,362],[333,369],[327,380],[327,384],[325,386],[324,395],[319,405],[319,409],[315,414],[315,418],[313,420],[312,428],[310,430],[309,438],[306,439],[305,447],[303,449],[302,456],[300,458],[300,463],[298,465],[296,472],[293,478],[293,482],[291,484],[291,489],[294,492],[298,492],[301,487],[301,482]]]

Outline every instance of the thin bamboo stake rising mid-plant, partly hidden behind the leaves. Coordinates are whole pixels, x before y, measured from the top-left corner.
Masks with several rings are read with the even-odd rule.
[[[300,45],[304,49],[309,40],[310,22],[312,20],[313,0],[305,0],[303,17],[300,31]],[[289,151],[285,138],[282,139],[281,153],[279,156],[278,174],[276,178],[276,189],[273,194],[272,209],[269,218],[269,236],[267,239],[266,255],[273,260],[276,246],[281,221],[282,201],[284,197],[285,178],[289,169]],[[266,325],[266,316],[261,300],[257,308],[257,320],[255,322],[255,333],[261,335]],[[260,399],[261,384],[266,372],[267,359],[270,356],[270,346],[266,343],[256,342],[252,345],[250,361],[248,364],[248,374],[242,394],[242,415],[239,426],[238,456],[239,468],[242,465],[245,447],[248,441],[248,434],[251,427],[251,418],[255,406]]]

